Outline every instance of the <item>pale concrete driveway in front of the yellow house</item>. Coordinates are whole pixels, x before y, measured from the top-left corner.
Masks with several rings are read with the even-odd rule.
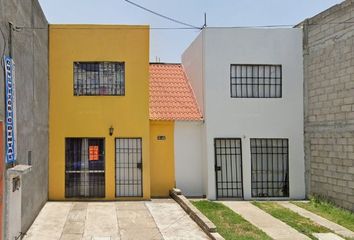
[[[48,202],[26,240],[209,239],[173,200]]]

